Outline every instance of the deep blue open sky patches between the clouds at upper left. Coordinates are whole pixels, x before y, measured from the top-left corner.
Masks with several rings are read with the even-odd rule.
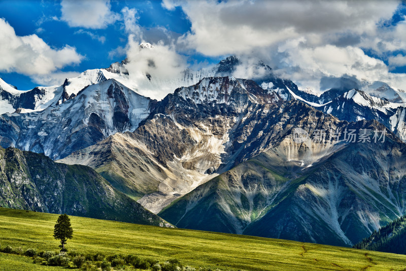
[[[113,1],[111,10],[120,13],[124,7],[137,9],[140,19],[139,23],[150,30],[149,38],[151,42],[157,42],[164,35],[153,32],[157,27],[165,27],[174,35],[181,35],[189,31],[190,22],[181,8],[168,11],[162,8],[158,1],[151,1],[146,4],[144,1]],[[70,27],[65,21],[55,20],[53,17],[61,17],[61,5],[59,2],[51,1],[1,1],[0,18],[5,18],[14,27],[17,36],[27,36],[36,34],[48,45],[54,48],[63,46],[75,46],[78,53],[84,56],[83,61],[74,66],[65,66],[61,71],[82,72],[87,69],[107,68],[111,63],[121,61],[125,54],[109,56],[109,53],[121,46],[125,47],[127,35],[123,31],[123,22],[116,22],[102,29],[87,29],[86,27]],[[88,34],[89,32],[99,37],[105,37],[105,41],[97,40]],[[199,55],[196,55],[199,57]],[[6,82],[17,85],[18,89],[31,89],[37,83],[29,76],[17,72],[1,72]]]

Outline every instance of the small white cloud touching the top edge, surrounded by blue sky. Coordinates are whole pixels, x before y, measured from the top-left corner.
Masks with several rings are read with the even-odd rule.
[[[61,7],[60,20],[71,27],[106,28],[120,19],[119,14],[111,11],[110,0],[62,0]]]

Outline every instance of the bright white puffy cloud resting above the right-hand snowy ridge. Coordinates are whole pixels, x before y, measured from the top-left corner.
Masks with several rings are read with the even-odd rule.
[[[358,47],[308,47],[295,40],[279,46],[278,50],[279,54],[273,59],[275,72],[292,79],[302,88],[320,89],[323,77],[355,76],[358,80],[399,81],[398,76],[389,73],[383,61],[366,55]]]

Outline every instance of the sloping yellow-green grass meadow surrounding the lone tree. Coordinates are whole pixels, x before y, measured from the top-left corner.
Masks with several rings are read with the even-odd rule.
[[[0,245],[57,250],[57,215],[0,208]],[[185,265],[222,270],[402,270],[406,256],[243,235],[168,229],[71,217],[67,248],[106,255],[122,253],[177,258]],[[63,270],[0,253],[0,270]]]

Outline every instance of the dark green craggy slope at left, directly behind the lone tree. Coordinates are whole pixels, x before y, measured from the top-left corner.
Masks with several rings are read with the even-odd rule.
[[[86,166],[0,147],[0,205],[45,213],[171,226]]]

